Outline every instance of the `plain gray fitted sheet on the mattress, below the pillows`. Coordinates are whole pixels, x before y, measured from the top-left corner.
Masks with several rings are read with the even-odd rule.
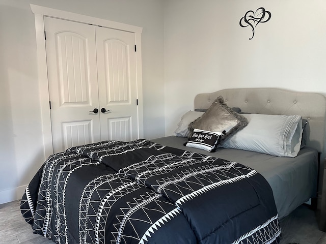
[[[184,146],[183,143],[187,141],[187,138],[177,136],[156,138],[151,141],[234,161],[255,169],[266,178],[273,190],[280,219],[308,201],[309,198],[316,197],[318,174],[316,149],[304,147],[295,158],[287,158],[227,148],[218,148],[214,153],[209,153]]]

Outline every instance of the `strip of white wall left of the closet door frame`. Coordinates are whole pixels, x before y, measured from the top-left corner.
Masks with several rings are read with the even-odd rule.
[[[0,203],[3,203],[21,197],[20,192],[43,163],[40,161],[44,161],[44,156],[35,23],[29,3],[19,7],[15,1],[0,4],[0,29]]]

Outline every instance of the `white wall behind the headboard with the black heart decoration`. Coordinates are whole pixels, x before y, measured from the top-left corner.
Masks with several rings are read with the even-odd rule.
[[[271,19],[239,25],[264,7]],[[326,2],[323,0],[165,1],[166,135],[193,109],[198,93],[280,87],[326,94]]]

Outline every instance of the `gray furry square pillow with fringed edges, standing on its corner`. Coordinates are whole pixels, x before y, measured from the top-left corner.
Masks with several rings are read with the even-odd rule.
[[[201,117],[189,124],[189,130],[224,132],[222,140],[225,140],[247,125],[247,118],[233,111],[219,96]]]

